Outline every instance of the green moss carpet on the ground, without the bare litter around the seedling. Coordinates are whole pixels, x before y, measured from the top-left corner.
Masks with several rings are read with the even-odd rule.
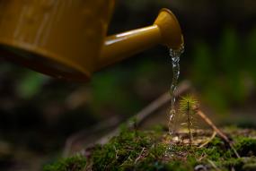
[[[112,138],[109,143],[94,147],[87,158],[86,169],[190,171],[197,167],[205,167],[207,170],[214,170],[214,167],[217,167],[220,170],[252,170],[256,163],[253,157],[255,139],[242,135],[234,137],[234,148],[244,158],[235,158],[233,150],[218,137],[207,146],[197,148],[182,143],[170,144],[171,137],[159,128],[147,132],[123,128],[119,136]],[[65,170],[68,166],[84,167],[84,158],[79,158],[80,160],[62,160],[58,164],[46,167],[47,171]],[[81,161],[84,161],[83,165]]]

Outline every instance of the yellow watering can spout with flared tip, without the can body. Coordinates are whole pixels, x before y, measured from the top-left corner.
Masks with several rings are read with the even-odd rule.
[[[170,10],[165,8],[160,11],[152,26],[105,38],[96,70],[157,44],[173,49],[183,46],[179,21]]]

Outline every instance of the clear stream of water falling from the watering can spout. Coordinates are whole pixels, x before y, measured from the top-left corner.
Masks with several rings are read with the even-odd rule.
[[[170,49],[170,56],[172,58],[172,85],[170,88],[170,95],[171,95],[171,110],[169,112],[169,133],[172,135],[176,129],[176,111],[175,111],[175,90],[177,88],[178,79],[180,76],[180,56],[184,52],[184,47],[182,46],[179,49]]]

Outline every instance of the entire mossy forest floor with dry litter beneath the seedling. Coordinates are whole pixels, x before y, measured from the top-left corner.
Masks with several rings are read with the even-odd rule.
[[[45,171],[85,170],[256,170],[256,131],[225,127],[227,143],[212,130],[169,135],[166,127],[138,131],[123,126],[119,135],[70,158],[44,167]],[[238,154],[237,154],[238,153]]]

